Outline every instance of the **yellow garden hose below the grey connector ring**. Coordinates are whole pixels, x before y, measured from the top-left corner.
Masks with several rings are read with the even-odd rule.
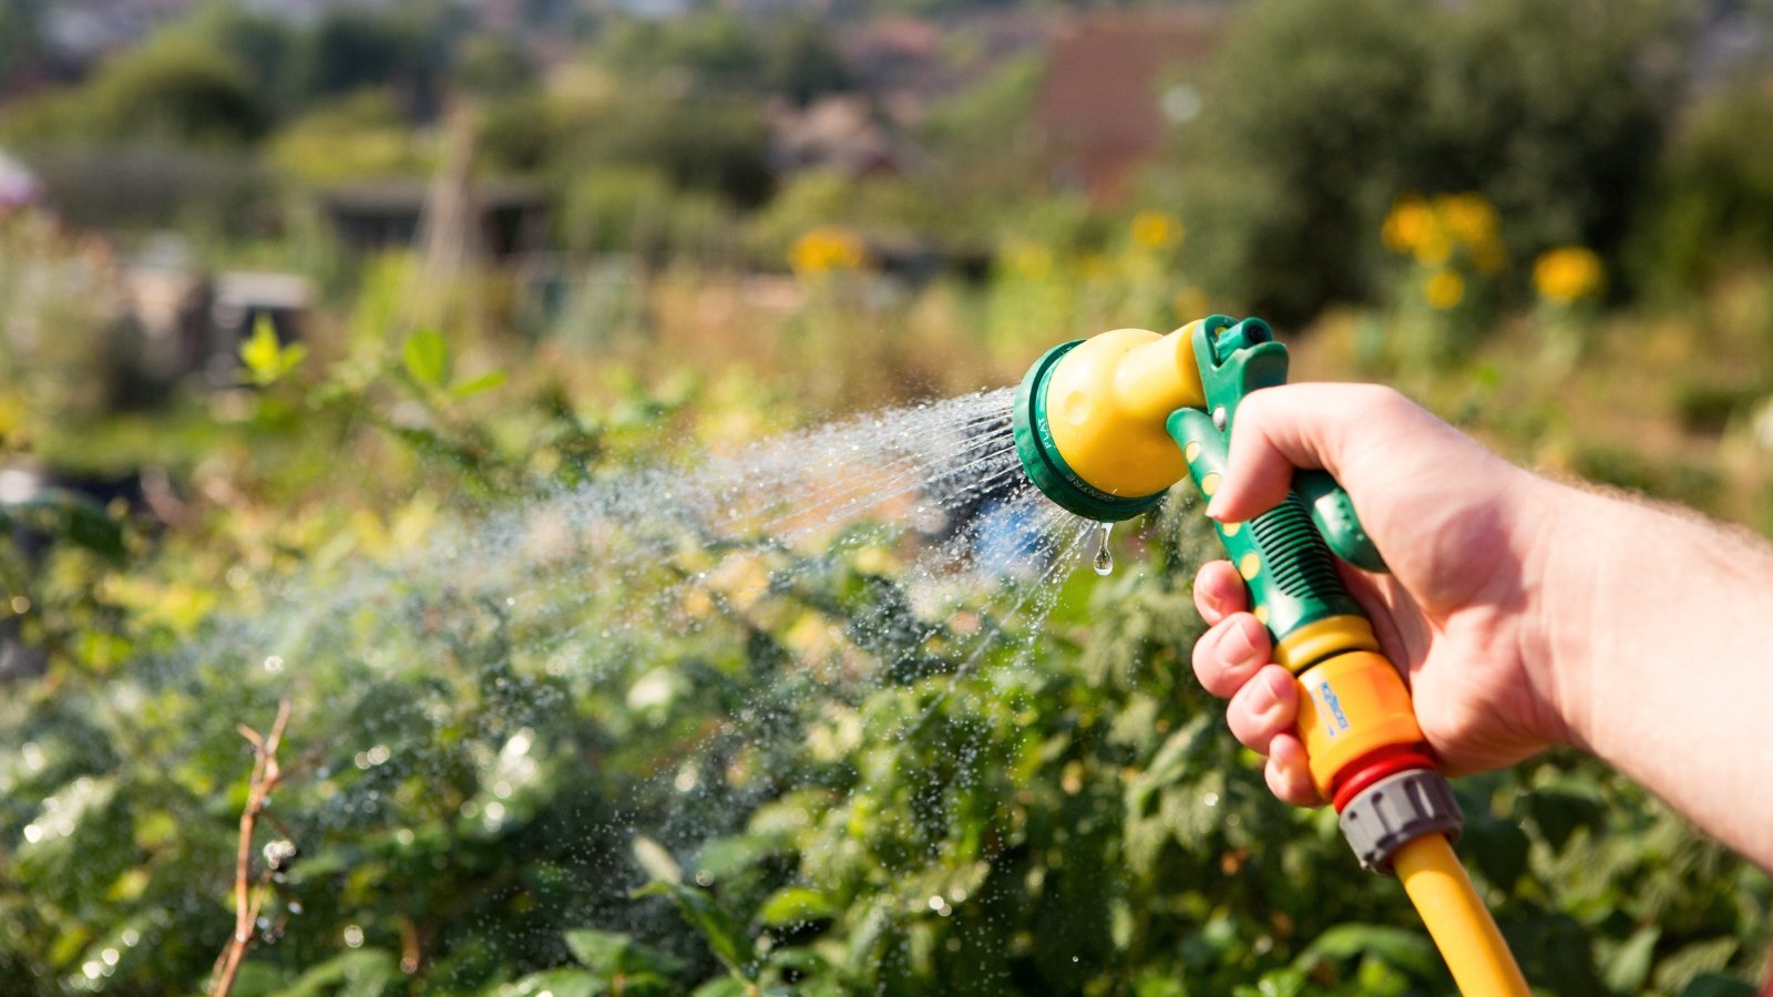
[[[1477,898],[1464,866],[1441,834],[1424,834],[1392,853],[1392,867],[1417,905],[1452,981],[1464,997],[1527,997],[1527,977]]]

